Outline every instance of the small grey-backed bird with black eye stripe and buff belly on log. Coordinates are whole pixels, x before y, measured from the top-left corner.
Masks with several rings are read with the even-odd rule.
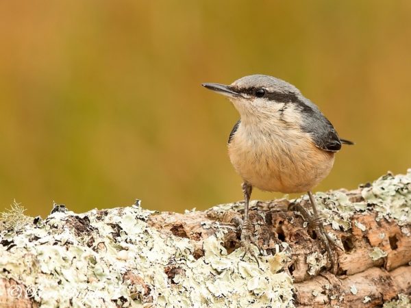
[[[286,194],[307,193],[313,214],[299,209],[325,245],[333,268],[330,246],[340,247],[324,230],[312,190],[329,175],[342,144],[353,142],[340,138],[319,107],[282,79],[249,75],[229,85],[202,86],[228,97],[240,114],[240,120],[229,133],[228,153],[242,177],[245,208],[240,240],[245,254],[253,254],[251,244],[256,244],[249,219],[253,188]]]

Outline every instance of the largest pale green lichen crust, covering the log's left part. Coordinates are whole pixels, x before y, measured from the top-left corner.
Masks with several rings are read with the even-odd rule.
[[[292,279],[283,270],[289,247],[260,257],[259,268],[248,255],[241,260],[241,249],[227,255],[218,231],[195,259],[195,242],[150,227],[152,213],[138,206],[55,212],[21,233],[3,231],[1,239],[16,246],[0,246],[0,277],[31,286],[42,308],[294,307]],[[76,234],[75,221],[88,220],[87,231]],[[170,265],[179,268],[172,278]],[[142,282],[124,279],[130,271]]]

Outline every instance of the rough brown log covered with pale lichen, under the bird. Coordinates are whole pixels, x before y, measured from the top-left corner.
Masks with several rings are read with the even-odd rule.
[[[332,269],[293,210],[309,210],[307,196],[251,202],[258,263],[240,246],[242,202],[184,214],[56,205],[1,231],[0,307],[407,307],[411,170],[314,198],[340,245]]]

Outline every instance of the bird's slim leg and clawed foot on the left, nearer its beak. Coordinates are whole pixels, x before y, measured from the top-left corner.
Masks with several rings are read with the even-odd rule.
[[[254,259],[256,259],[257,264],[260,267],[256,254],[251,250],[251,243],[257,246],[253,239],[253,225],[251,224],[249,217],[249,201],[253,187],[249,183],[244,182],[242,183],[241,188],[244,193],[244,220],[242,221],[241,227],[241,245],[245,250],[244,255],[242,255],[242,259],[244,259],[247,252],[249,252]]]

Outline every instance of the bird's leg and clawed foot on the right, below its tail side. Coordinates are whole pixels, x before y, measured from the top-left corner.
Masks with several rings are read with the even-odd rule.
[[[334,242],[334,240],[328,235],[327,232],[325,232],[324,229],[324,225],[323,225],[323,221],[321,220],[321,218],[319,217],[319,211],[316,207],[316,203],[314,201],[314,198],[312,196],[312,193],[309,191],[308,192],[308,197],[310,198],[310,203],[312,206],[312,216],[310,216],[308,214],[307,211],[305,211],[305,213],[303,213],[303,211],[300,212],[303,215],[304,218],[306,218],[306,220],[308,220],[308,223],[310,224],[311,227],[314,227],[319,239],[321,240],[321,242],[324,244],[325,249],[327,250],[327,255],[329,258],[329,263],[330,263],[330,268],[334,268],[334,254],[332,252],[331,246],[330,244],[332,244],[332,246],[336,246],[338,248],[340,248],[340,246],[338,246],[338,244],[336,244],[336,242]]]

